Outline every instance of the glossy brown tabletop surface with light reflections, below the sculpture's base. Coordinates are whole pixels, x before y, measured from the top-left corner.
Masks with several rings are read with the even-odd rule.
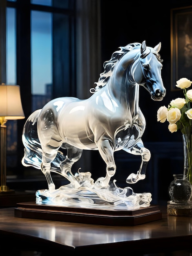
[[[161,208],[160,208],[161,209]],[[164,212],[163,212],[164,211]],[[140,241],[147,246],[156,241],[156,248],[163,248],[162,241],[186,237],[192,240],[192,217],[167,216],[163,209],[161,220],[136,226],[104,226],[81,223],[58,222],[14,217],[14,208],[0,209],[0,234],[9,231],[16,234],[48,240],[73,249],[87,246],[123,243],[129,245]],[[176,240],[174,240],[176,246]]]

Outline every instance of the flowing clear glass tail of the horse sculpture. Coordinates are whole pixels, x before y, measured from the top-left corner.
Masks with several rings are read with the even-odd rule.
[[[37,120],[41,109],[34,111],[25,122],[22,132],[24,156],[22,164],[40,169],[42,162],[42,148],[37,134]]]

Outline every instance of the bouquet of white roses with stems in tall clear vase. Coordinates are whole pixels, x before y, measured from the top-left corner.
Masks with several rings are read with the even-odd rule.
[[[192,184],[192,84],[187,78],[176,81],[176,87],[183,89],[184,98],[177,98],[170,102],[166,108],[162,106],[157,110],[157,121],[169,122],[170,132],[181,130],[184,152],[183,178]]]

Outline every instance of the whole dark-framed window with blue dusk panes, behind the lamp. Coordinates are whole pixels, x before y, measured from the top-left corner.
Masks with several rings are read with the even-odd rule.
[[[7,1],[7,84],[20,85],[27,117],[56,97],[76,96],[73,0]],[[7,169],[23,174],[23,149],[17,137],[23,121],[7,122]],[[18,127],[18,128],[17,128]],[[18,158],[18,161],[16,159]]]

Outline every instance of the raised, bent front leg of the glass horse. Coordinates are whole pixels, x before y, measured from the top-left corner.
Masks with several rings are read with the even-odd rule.
[[[130,148],[130,149],[124,148],[123,150],[125,150],[126,152],[131,153],[133,155],[141,155],[141,166],[140,166],[138,172],[136,174],[131,173],[127,177],[126,182],[129,184],[134,184],[134,183],[138,182],[139,180],[144,180],[146,169],[147,169],[147,164],[151,158],[150,150],[148,150],[147,148],[145,148],[143,146],[143,141],[141,139],[139,141],[137,141],[136,145],[133,146],[132,148]]]

